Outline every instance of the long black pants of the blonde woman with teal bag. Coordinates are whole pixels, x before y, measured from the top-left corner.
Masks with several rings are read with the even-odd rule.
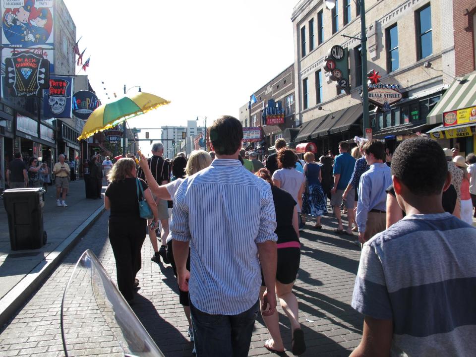
[[[141,268],[140,250],[146,236],[146,220],[109,218],[109,240],[116,259],[118,288],[126,300],[133,297],[135,276]]]

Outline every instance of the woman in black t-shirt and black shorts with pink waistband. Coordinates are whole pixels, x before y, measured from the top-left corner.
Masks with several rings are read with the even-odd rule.
[[[304,353],[306,345],[304,334],[299,325],[297,298],[293,294],[294,281],[300,260],[300,243],[297,221],[296,201],[293,196],[285,190],[273,185],[268,170],[260,169],[256,176],[271,184],[274,207],[276,210],[276,235],[278,236],[278,265],[276,270],[276,294],[279,297],[281,307],[288,315],[291,323],[293,335],[293,354],[295,356]],[[262,277],[262,275],[261,275]],[[263,294],[266,291],[264,278],[262,277],[261,290],[259,294],[260,306],[263,305]],[[278,312],[271,316],[264,316],[263,320],[268,328],[271,338],[266,340],[264,347],[271,352],[283,352],[284,344],[279,332]]]

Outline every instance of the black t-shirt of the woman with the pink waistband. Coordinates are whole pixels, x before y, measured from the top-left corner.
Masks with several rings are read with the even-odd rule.
[[[274,233],[278,236],[277,243],[299,241],[293,227],[293,214],[296,201],[290,193],[276,186],[271,186],[273,193],[274,209],[276,211],[276,223]]]

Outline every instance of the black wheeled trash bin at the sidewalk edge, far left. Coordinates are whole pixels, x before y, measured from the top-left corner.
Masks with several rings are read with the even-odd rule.
[[[13,188],[3,191],[12,250],[38,249],[46,244],[43,231],[44,188]]]

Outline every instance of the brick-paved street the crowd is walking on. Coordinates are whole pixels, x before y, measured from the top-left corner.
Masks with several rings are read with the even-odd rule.
[[[84,238],[64,258],[45,284],[21,308],[0,333],[2,356],[64,356],[60,335],[62,291],[81,253],[91,249],[113,280],[115,261],[107,238],[108,213],[103,214]],[[359,251],[346,236],[331,233],[336,226],[323,218],[323,230],[302,233],[302,256],[295,293],[307,352],[303,356],[348,356],[357,346],[362,317],[351,306]],[[351,238],[351,237],[349,237]],[[179,305],[172,268],[150,261],[152,248],[146,238],[141,289],[133,306],[142,324],[167,357],[191,356],[186,337],[187,321]],[[289,322],[279,307],[285,346],[291,349]],[[65,311],[69,356],[122,356],[119,342],[98,313],[94,299],[81,297]],[[261,317],[255,324],[250,356],[269,355],[263,347],[269,338]],[[291,352],[287,355],[292,356]]]

